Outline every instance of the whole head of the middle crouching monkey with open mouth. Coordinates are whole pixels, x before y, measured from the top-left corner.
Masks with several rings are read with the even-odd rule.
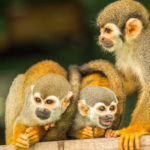
[[[113,91],[100,86],[87,86],[80,94],[78,111],[93,126],[109,128],[115,119],[118,100]]]

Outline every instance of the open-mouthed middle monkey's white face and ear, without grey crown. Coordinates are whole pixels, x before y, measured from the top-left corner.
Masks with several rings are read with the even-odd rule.
[[[88,106],[84,100],[78,102],[78,110],[82,116],[89,118],[93,126],[103,129],[109,128],[114,121],[117,112],[117,104],[113,101],[110,105],[98,102],[94,107]]]

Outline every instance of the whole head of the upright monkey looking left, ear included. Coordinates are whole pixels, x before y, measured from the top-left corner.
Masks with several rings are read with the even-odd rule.
[[[109,4],[97,17],[100,27],[98,44],[109,52],[119,50],[124,43],[135,41],[149,24],[149,13],[133,0],[120,0]]]

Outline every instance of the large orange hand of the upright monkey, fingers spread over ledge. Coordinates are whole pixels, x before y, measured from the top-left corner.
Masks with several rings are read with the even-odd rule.
[[[120,150],[139,150],[140,149],[140,137],[145,134],[149,134],[144,128],[130,125],[127,128],[118,130],[120,134],[119,149]]]

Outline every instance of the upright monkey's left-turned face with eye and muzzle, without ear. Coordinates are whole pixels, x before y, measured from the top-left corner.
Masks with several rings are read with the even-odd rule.
[[[106,24],[102,27],[98,44],[109,52],[122,47],[123,41],[119,28],[115,24]]]

